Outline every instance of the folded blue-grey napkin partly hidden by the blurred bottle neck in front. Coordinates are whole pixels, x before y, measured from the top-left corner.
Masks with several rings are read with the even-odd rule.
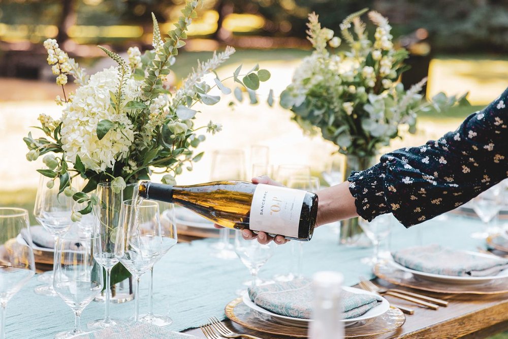
[[[248,290],[250,300],[272,313],[300,319],[311,319],[312,280],[295,279],[291,282],[269,284]],[[381,298],[371,294],[341,291],[342,318],[350,319],[364,315],[377,306]]]

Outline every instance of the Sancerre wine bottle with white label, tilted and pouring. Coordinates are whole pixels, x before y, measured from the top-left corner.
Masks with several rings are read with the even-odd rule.
[[[172,186],[143,181],[139,196],[186,207],[220,226],[303,241],[312,237],[317,216],[316,194],[263,183],[225,180]]]

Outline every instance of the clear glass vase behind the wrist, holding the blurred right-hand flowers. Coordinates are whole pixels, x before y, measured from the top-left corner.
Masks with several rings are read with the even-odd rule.
[[[344,157],[342,180],[347,181],[354,171],[363,171],[372,167],[376,162],[375,156],[353,156]],[[367,247],[371,245],[370,240],[364,236],[363,230],[358,223],[358,218],[342,220],[340,222],[339,243],[343,245]]]

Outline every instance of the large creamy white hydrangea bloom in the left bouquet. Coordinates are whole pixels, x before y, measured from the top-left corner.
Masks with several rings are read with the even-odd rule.
[[[90,76],[86,85],[76,90],[73,102],[62,115],[61,142],[67,159],[79,155],[87,169],[102,172],[112,168],[116,161],[128,156],[134,141],[133,126],[124,112],[116,114],[110,103],[110,91],[117,90],[117,69],[111,67]],[[124,103],[138,94],[139,83],[129,79],[124,87]],[[97,124],[108,119],[117,121],[102,140],[97,137]]]

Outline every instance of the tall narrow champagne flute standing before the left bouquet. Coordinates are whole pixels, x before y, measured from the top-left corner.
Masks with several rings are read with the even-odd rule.
[[[97,205],[93,208],[96,218],[95,230],[99,234],[101,247],[95,254],[95,260],[106,270],[106,284],[104,293],[105,311],[104,319],[94,320],[88,323],[88,328],[93,330],[103,329],[116,325],[117,320],[109,316],[111,298],[111,270],[118,263],[115,257],[115,238],[120,221],[120,210],[123,201],[123,191],[120,186],[111,182],[100,182],[96,189]]]

